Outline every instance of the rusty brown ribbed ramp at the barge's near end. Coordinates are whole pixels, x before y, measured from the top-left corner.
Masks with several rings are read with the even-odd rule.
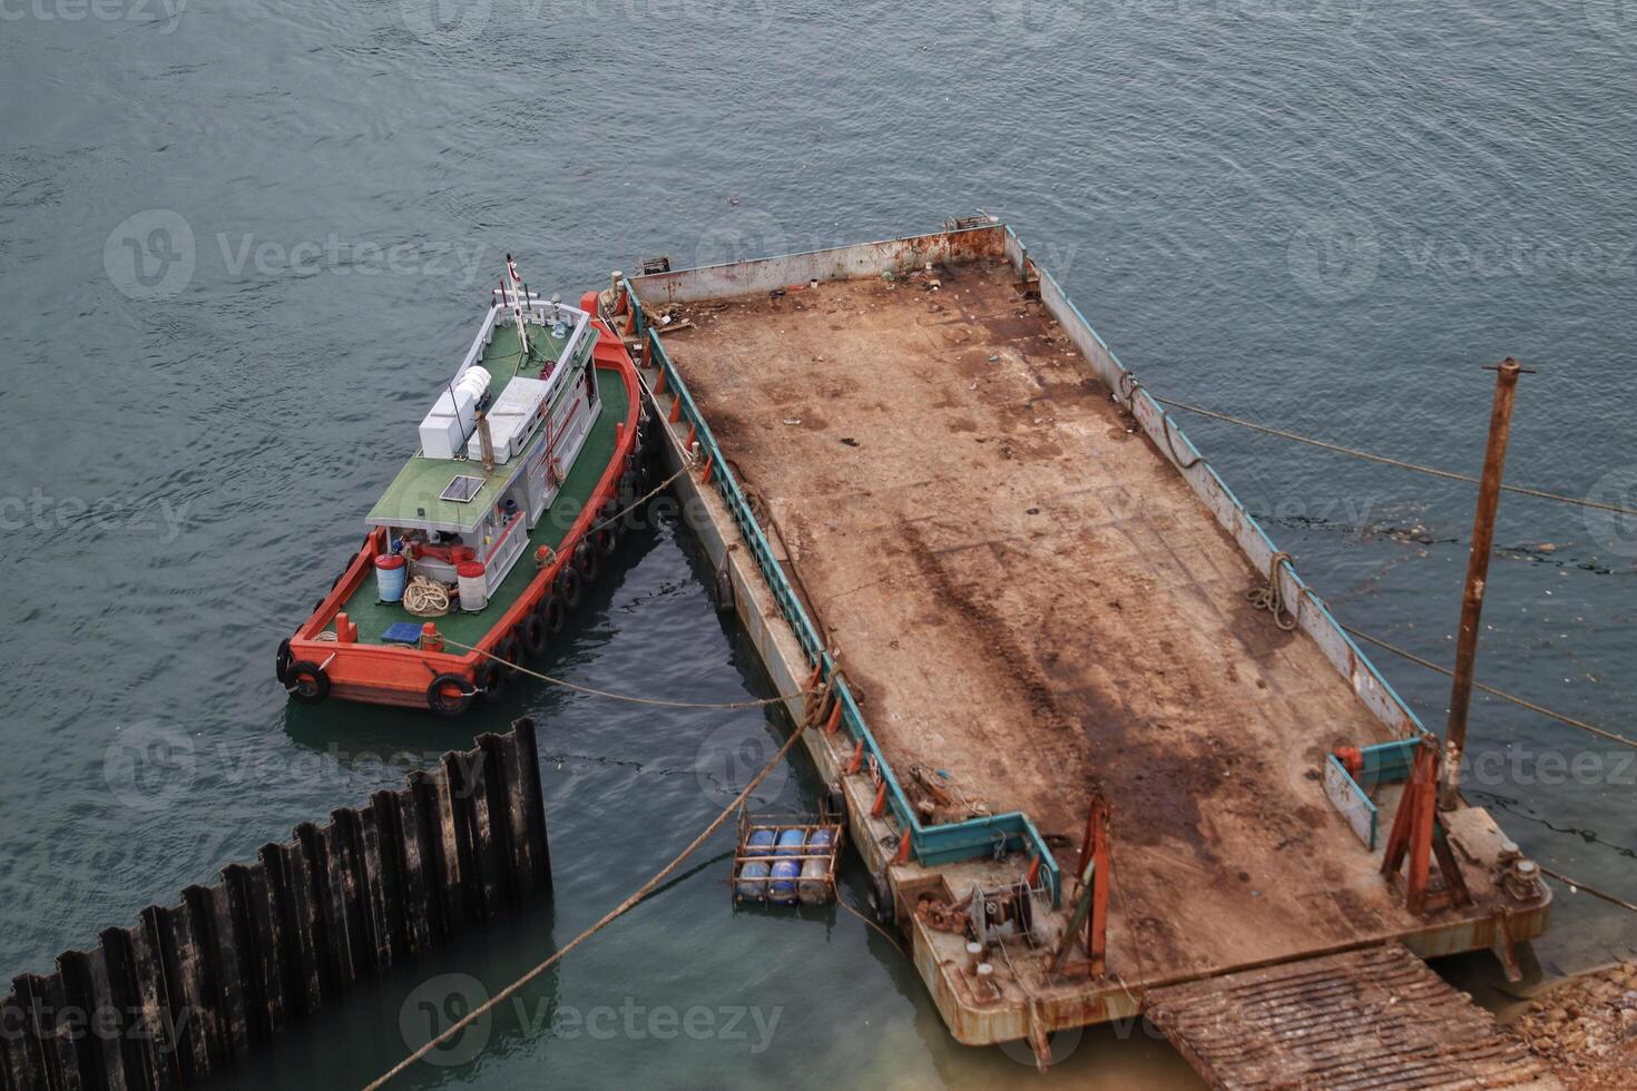
[[[1490,1012],[1398,944],[1148,994],[1213,1088],[1560,1088]]]

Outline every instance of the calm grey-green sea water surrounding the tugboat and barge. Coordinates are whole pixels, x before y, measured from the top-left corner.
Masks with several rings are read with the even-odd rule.
[[[1617,0],[0,0],[0,975],[530,713],[557,905],[362,990],[244,1086],[383,1071],[637,888],[778,743],[748,713],[543,687],[458,725],[290,707],[273,646],[357,541],[516,254],[576,298],[1005,216],[1157,391],[1637,501],[1637,18]],[[1202,420],[1190,435],[1349,623],[1447,662],[1472,496]],[[1480,676],[1637,733],[1637,527],[1508,497]],[[622,545],[553,667],[764,695],[686,530]],[[1447,684],[1383,656],[1429,725]],[[162,767],[131,775],[136,741]],[[1480,698],[1470,792],[1637,898],[1630,749]],[[797,765],[781,805],[810,803]],[[733,914],[720,836],[404,1086],[987,1086],[856,918]],[[864,903],[850,873],[845,896]],[[1558,891],[1550,968],[1630,947]],[[1483,970],[1473,970],[1481,977]],[[449,977],[467,975],[467,977]],[[481,1048],[478,1048],[481,1047]],[[1080,1086],[1187,1086],[1066,1042]]]

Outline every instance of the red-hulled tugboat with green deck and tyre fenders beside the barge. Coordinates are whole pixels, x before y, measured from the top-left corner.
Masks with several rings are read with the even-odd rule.
[[[458,716],[540,656],[647,484],[630,353],[598,316],[530,293],[506,255],[488,314],[421,420],[368,535],[278,646],[291,700]],[[611,293],[616,299],[617,293]]]

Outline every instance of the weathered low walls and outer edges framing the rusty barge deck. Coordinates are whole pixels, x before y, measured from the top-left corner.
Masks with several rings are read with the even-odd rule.
[[[1058,281],[1033,265],[1010,227],[977,227],[953,232],[951,236],[894,239],[787,258],[763,258],[760,262],[720,265],[706,270],[660,273],[624,281],[624,290],[643,304],[663,308],[671,303],[771,291],[804,283],[805,280],[879,275],[889,268],[902,270],[923,265],[928,260],[943,260],[940,255],[951,254],[972,257],[1003,254],[1020,273],[1020,278],[1038,283],[1043,304],[1080,348],[1092,371],[1110,389],[1123,391],[1130,397],[1131,412],[1149,438],[1161,451],[1174,451],[1172,463],[1193,487],[1195,496],[1213,512],[1218,523],[1226,528],[1251,563],[1265,572],[1270,559],[1278,551],[1272,538],[1244,509],[1216,469],[1202,458],[1187,433],[1169,419],[1159,402],[1143,391],[1141,384],[1133,386],[1130,371],[1120,365],[1113,352],[1062,293]],[[710,487],[702,487],[692,476],[679,479],[678,491],[684,504],[691,509],[688,522],[699,532],[712,564],[728,572],[733,587],[735,612],[751,635],[774,684],[779,685],[781,692],[796,692],[805,680],[810,664],[815,659],[822,659],[827,674],[833,671],[835,664],[820,646],[818,636],[781,568],[781,558],[774,553],[771,543],[750,514],[745,496],[732,473],[732,463],[717,447],[709,422],[688,393],[688,386],[665,352],[665,345],[653,332],[648,332],[645,340],[650,350],[650,363],[656,368],[656,371],[643,373],[650,402],[663,420],[671,419],[668,411],[673,406],[678,414],[676,427],[666,430],[671,443],[670,456],[673,458],[673,468],[681,465],[681,442],[688,433],[699,443],[699,458],[709,458],[710,465],[719,468],[712,474]],[[655,379],[663,376],[663,381],[658,383],[665,391],[663,394],[656,396],[653,393],[653,383],[648,379],[650,375]],[[1180,461],[1182,458],[1187,463]],[[1319,643],[1326,659],[1349,680],[1354,692],[1387,726],[1388,733],[1401,739],[1424,733],[1414,713],[1393,692],[1391,685],[1380,676],[1347,633],[1341,630],[1324,602],[1301,581],[1295,568],[1287,563],[1275,577],[1280,581],[1285,600],[1301,607],[1298,615],[1301,628]],[[1021,839],[1038,837],[1028,818],[1023,815],[1003,815],[976,823],[930,829],[918,828],[897,785],[891,764],[886,762],[886,756],[876,746],[874,736],[869,733],[845,682],[840,690],[846,734],[832,741],[820,731],[810,731],[804,736],[804,743],[820,774],[830,782],[838,780],[841,783],[848,803],[853,844],[858,846],[873,873],[891,878],[899,898],[899,913],[902,914],[909,909],[904,905],[904,891],[913,890],[917,883],[925,883],[928,877],[943,877],[946,885],[963,890],[974,885],[990,887],[997,880],[1015,880],[1015,875],[997,872],[997,867],[985,859],[987,852],[977,854],[972,851],[977,846],[994,846],[994,836],[985,828],[995,823],[1000,823],[1002,828],[1021,831]],[[792,716],[799,718],[802,715],[800,702],[791,702],[789,705]],[[887,779],[891,810],[884,818],[869,816],[871,803],[874,801],[874,787],[868,777],[863,774],[845,774],[846,759],[853,751],[853,739],[864,741],[868,752],[877,757],[882,774]],[[1481,811],[1470,811],[1470,815],[1475,819],[1481,818],[1481,821],[1488,821]],[[891,836],[902,828],[909,828],[915,837],[917,862],[892,865],[892,852],[886,846],[891,844]],[[1049,883],[1056,888],[1059,882],[1056,865],[1043,844],[1041,851],[1049,867],[1046,872],[1051,877]],[[1550,895],[1547,893],[1536,905],[1508,911],[1496,918],[1441,921],[1409,932],[1383,931],[1380,936],[1369,936],[1359,942],[1339,944],[1334,950],[1398,941],[1423,957],[1436,957],[1493,947],[1501,941],[1521,941],[1539,936],[1545,931],[1549,916]],[[1012,994],[1002,999],[982,999],[974,996],[971,985],[958,970],[961,957],[956,937],[931,929],[918,918],[909,921],[909,934],[917,970],[927,981],[940,1014],[954,1037],[969,1045],[1015,1040],[1025,1037],[1031,1026],[1049,1032],[1089,1022],[1134,1017],[1141,1009],[1146,988],[1190,980],[1188,975],[1169,978],[1156,975],[1149,981],[1133,986],[1120,980],[1059,981],[1026,1003]],[[1328,952],[1315,950],[1310,954]]]

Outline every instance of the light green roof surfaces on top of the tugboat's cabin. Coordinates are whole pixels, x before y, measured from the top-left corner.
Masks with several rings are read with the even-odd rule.
[[[524,378],[540,378],[535,360],[558,360],[566,347],[566,337],[555,337],[543,326],[529,327],[529,355],[532,366],[522,366],[522,352],[517,342],[517,327],[496,326],[494,340],[483,350],[480,363],[489,371],[489,402],[499,399],[501,391],[517,375]],[[483,466],[471,460],[460,458],[426,458],[416,455],[398,471],[386,492],[370,509],[367,522],[380,525],[414,525],[422,522],[458,525],[476,519],[498,501],[516,466],[496,466],[485,474]],[[471,501],[462,504],[442,501],[439,496],[457,474],[486,478],[483,487]]]

